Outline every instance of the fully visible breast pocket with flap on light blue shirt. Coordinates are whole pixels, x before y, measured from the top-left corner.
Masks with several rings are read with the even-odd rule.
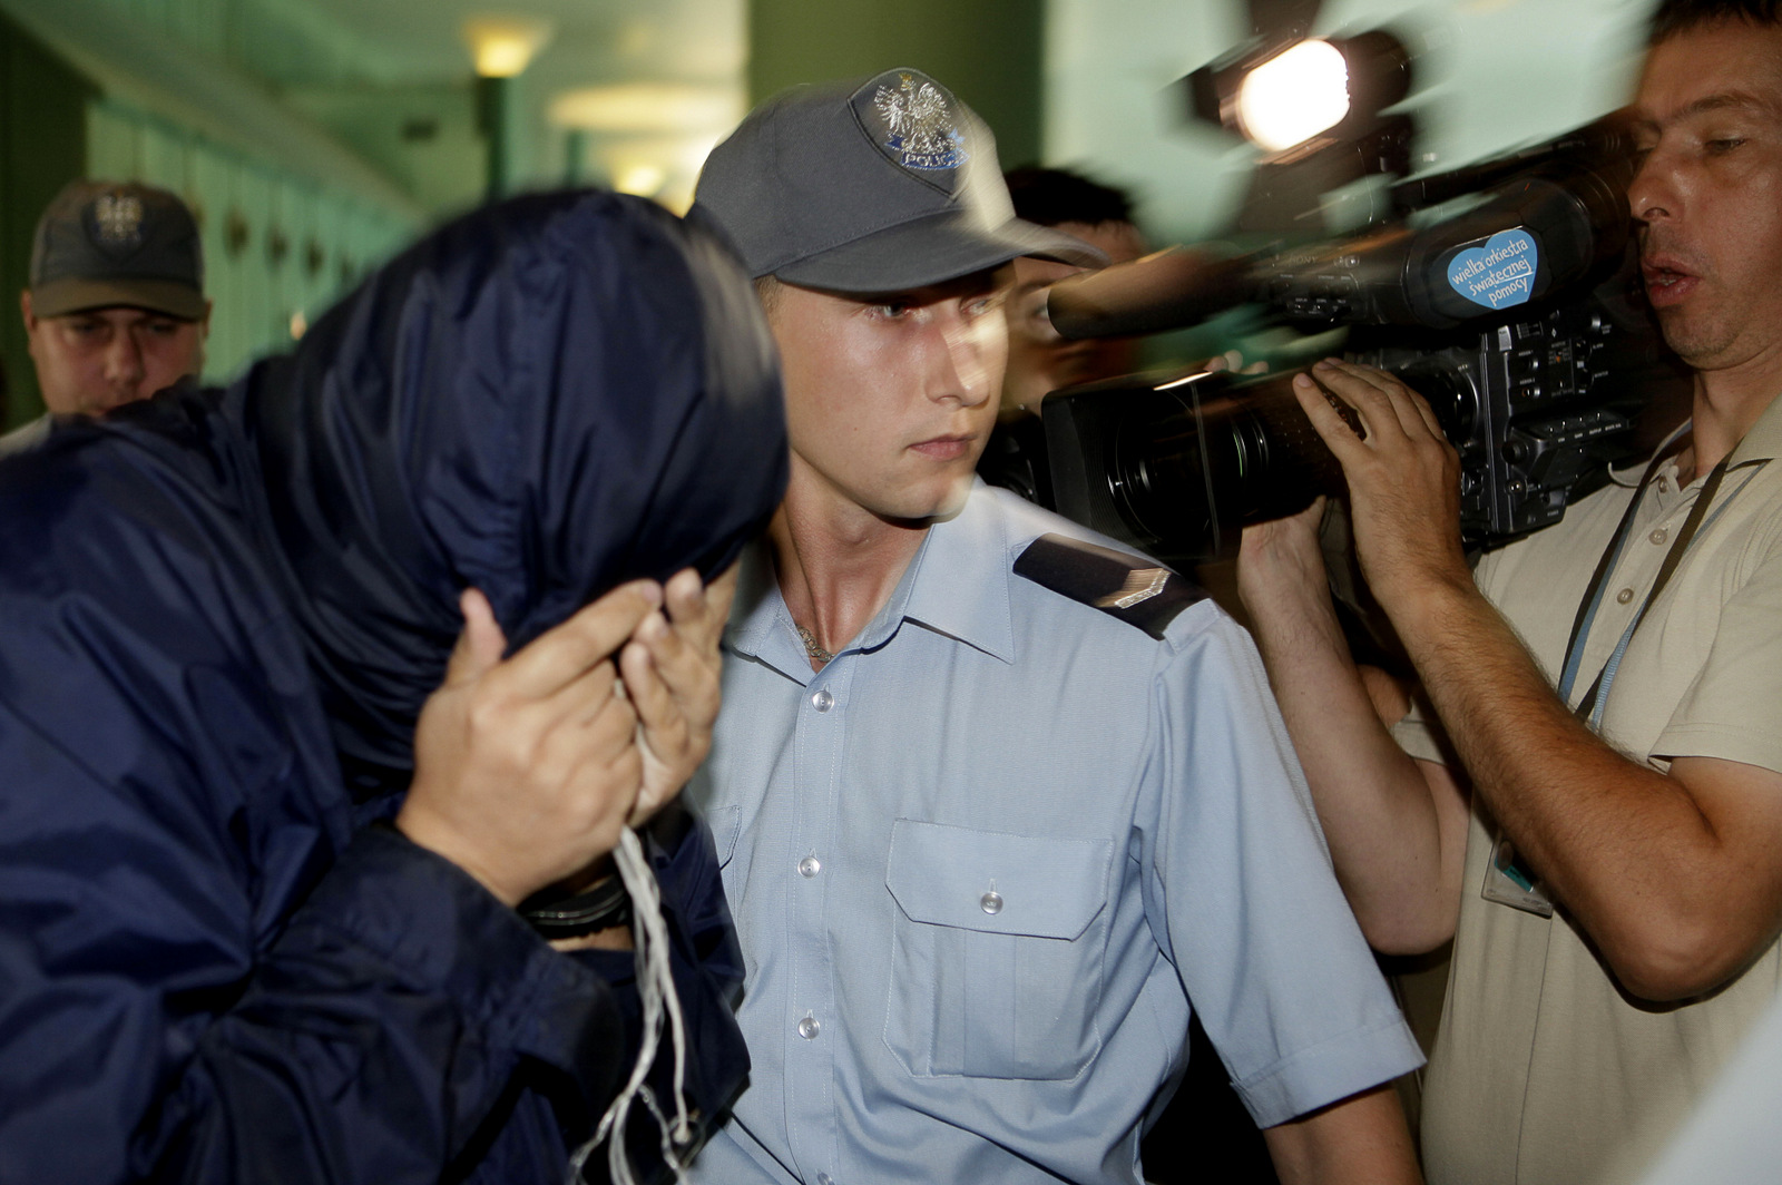
[[[1075,1078],[1101,1048],[1112,839],[898,820],[886,1044],[918,1078]]]

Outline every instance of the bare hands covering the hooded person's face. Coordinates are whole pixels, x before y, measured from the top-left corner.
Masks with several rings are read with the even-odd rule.
[[[633,581],[510,658],[470,588],[396,818],[508,905],[604,859],[706,759],[736,570]]]

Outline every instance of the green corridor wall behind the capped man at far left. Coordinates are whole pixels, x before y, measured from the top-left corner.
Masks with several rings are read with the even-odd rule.
[[[146,182],[198,216],[214,303],[203,378],[290,346],[426,210],[307,112],[278,77],[364,66],[308,0],[0,0],[4,424],[41,410],[18,315],[30,235],[87,176]]]

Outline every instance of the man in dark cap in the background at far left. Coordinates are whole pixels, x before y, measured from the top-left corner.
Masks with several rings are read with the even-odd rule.
[[[205,264],[198,223],[164,189],[73,182],[30,248],[20,294],[43,406],[98,415],[205,365]]]

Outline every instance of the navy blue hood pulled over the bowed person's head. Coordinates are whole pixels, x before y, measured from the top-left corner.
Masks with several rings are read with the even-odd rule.
[[[412,764],[465,586],[519,649],[624,581],[723,570],[786,486],[747,276],[707,232],[617,194],[431,233],[230,403],[349,764]]]

